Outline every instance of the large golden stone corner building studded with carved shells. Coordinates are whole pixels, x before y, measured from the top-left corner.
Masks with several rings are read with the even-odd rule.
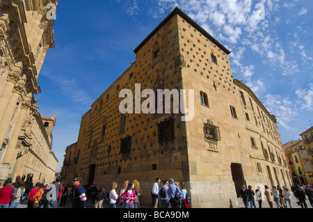
[[[63,180],[79,175],[83,184],[109,189],[112,181],[121,187],[136,179],[145,206],[156,177],[185,182],[192,207],[236,206],[243,184],[290,187],[275,116],[233,79],[230,51],[220,42],[175,8],[134,52],[136,61],[81,118],[77,144],[71,155],[65,150]],[[125,89],[133,96],[125,98]],[[163,100],[169,113],[147,102],[160,89],[172,93]],[[185,109],[174,111],[175,90]]]

